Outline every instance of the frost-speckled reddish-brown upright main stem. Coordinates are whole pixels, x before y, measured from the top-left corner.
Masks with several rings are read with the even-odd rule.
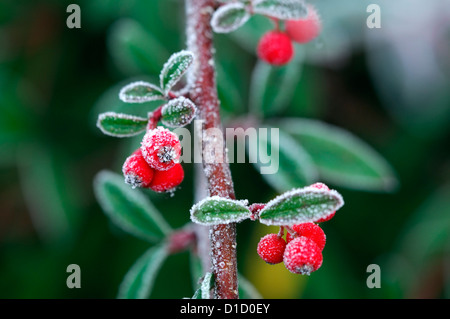
[[[196,132],[203,140],[203,155],[205,150],[216,151],[216,160],[203,158],[208,195],[234,199],[230,168],[225,160],[225,143],[219,145],[221,150],[218,154],[217,139],[205,135],[207,130],[221,129],[222,126],[215,80],[213,32],[210,26],[214,8],[214,0],[186,0],[188,49],[195,56],[194,65],[188,74],[189,96],[198,107],[197,119],[203,121],[201,130]],[[237,299],[236,225],[231,223],[210,227],[209,240],[212,272],[216,282],[215,298]]]

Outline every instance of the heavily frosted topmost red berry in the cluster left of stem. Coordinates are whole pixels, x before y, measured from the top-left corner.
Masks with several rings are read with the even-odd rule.
[[[163,127],[157,127],[145,134],[141,150],[148,165],[158,171],[165,171],[178,163],[181,144],[175,133]]]

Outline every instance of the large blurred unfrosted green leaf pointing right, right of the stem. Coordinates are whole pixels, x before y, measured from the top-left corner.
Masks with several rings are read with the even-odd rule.
[[[309,153],[324,180],[367,191],[393,191],[398,186],[389,163],[350,132],[315,120],[277,123]]]

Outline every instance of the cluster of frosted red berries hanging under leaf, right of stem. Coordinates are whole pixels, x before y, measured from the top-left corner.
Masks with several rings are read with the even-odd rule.
[[[322,183],[311,186],[328,189]],[[258,255],[268,264],[284,262],[286,268],[294,274],[311,274],[322,266],[322,250],[326,243],[325,233],[317,223],[330,220],[333,216],[334,213],[315,223],[286,226],[278,234],[265,235],[258,243]],[[283,238],[284,228],[288,229],[286,240]]]

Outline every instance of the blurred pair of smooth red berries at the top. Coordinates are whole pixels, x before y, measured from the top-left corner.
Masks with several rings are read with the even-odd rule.
[[[292,41],[307,43],[315,39],[322,25],[320,17],[312,5],[308,5],[308,15],[299,20],[286,20],[285,31],[272,30],[259,40],[257,53],[261,60],[271,65],[284,65],[294,56]]]

